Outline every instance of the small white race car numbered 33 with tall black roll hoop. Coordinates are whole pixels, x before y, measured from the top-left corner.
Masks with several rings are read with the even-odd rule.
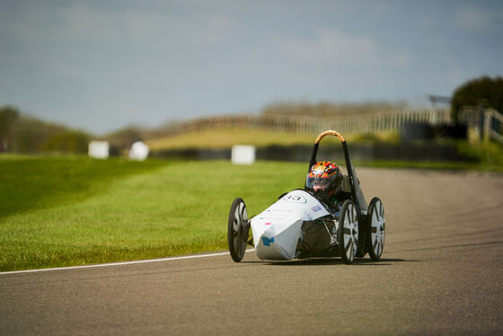
[[[347,198],[331,204],[307,182],[303,189],[281,195],[269,208],[250,218],[243,199],[234,199],[227,224],[234,261],[243,259],[248,244],[254,246],[261,260],[267,261],[340,257],[351,264],[367,252],[374,261],[381,258],[386,232],[383,202],[375,197],[366,203],[346,139],[339,132],[327,130],[316,137],[308,177],[317,163],[320,142],[327,136],[339,138],[342,145],[348,173],[340,176],[339,188]]]

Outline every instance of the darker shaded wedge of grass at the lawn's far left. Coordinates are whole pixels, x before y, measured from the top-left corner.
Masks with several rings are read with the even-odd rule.
[[[110,183],[148,172],[165,161],[93,160],[85,156],[0,156],[0,219],[83,200]]]

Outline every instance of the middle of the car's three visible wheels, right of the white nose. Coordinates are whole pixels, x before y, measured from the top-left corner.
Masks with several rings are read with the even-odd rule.
[[[339,243],[342,261],[349,265],[355,260],[358,246],[357,208],[350,199],[347,199],[340,209],[337,242]]]

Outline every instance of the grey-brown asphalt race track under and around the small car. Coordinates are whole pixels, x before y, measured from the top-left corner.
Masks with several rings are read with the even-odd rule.
[[[223,255],[4,273],[0,335],[503,334],[503,175],[358,177],[386,211],[379,262],[248,252],[241,263]]]

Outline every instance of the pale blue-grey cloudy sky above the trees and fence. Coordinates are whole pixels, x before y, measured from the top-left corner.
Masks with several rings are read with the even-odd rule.
[[[95,134],[503,75],[503,1],[0,0],[0,105]]]

